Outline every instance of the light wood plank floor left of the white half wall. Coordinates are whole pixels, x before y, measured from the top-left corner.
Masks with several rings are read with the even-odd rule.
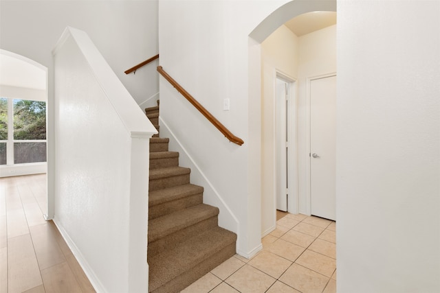
[[[0,293],[95,292],[46,202],[45,174],[0,178]]]

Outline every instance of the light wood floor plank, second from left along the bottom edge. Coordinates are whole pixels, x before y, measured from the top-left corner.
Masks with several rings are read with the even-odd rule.
[[[29,234],[8,239],[9,292],[23,292],[43,284]]]

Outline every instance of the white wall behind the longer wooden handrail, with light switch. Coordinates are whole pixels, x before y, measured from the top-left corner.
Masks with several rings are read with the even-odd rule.
[[[159,1],[164,70],[245,141],[241,146],[230,143],[173,86],[160,80],[161,119],[239,221],[234,231],[237,251],[245,256],[261,248],[261,97],[249,101],[249,70],[256,65],[248,63],[248,36],[283,3]],[[259,75],[257,66],[252,72]],[[230,99],[229,111],[223,111],[225,98]]]

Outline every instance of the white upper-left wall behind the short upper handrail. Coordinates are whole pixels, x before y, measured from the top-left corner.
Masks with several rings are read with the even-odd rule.
[[[157,93],[157,61],[135,75],[124,73],[157,54],[157,0],[1,1],[0,8],[1,49],[41,63],[50,76],[51,51],[72,26],[89,34],[137,104]]]

